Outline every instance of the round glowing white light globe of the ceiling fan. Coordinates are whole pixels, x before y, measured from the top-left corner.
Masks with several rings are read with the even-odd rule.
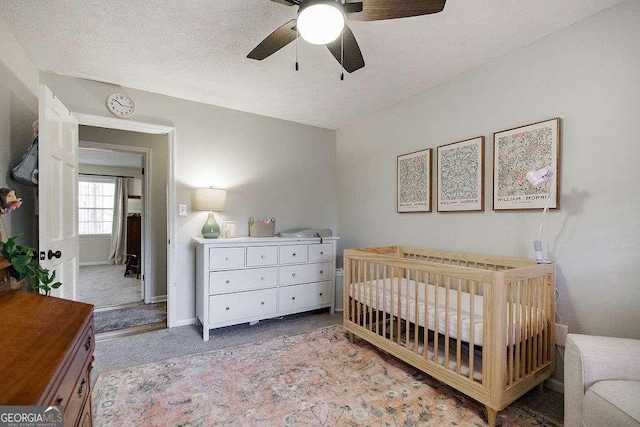
[[[344,14],[334,0],[310,1],[300,6],[296,25],[305,41],[323,45],[340,36]]]

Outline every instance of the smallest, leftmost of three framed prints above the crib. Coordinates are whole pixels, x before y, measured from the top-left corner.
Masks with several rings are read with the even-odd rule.
[[[431,148],[398,156],[398,212],[431,212]]]

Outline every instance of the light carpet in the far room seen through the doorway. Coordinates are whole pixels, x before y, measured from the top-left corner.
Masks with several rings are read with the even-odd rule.
[[[80,267],[78,300],[96,308],[113,307],[142,301],[140,279],[124,277],[124,265],[88,265]]]

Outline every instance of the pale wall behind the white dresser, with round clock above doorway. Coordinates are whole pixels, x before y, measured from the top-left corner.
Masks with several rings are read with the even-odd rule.
[[[136,102],[138,122],[176,128],[177,320],[195,317],[195,246],[205,212],[192,212],[195,187],[228,189],[220,221],[238,222],[247,234],[250,216],[277,218],[276,229],[312,226],[336,229],[336,133],[221,107],[199,104],[106,83],[41,73],[73,112],[111,117],[107,96],[124,91]],[[86,139],[86,138],[83,138]],[[178,217],[177,204],[189,215]]]

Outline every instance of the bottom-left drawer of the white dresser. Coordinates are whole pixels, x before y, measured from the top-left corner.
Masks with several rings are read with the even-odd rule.
[[[275,313],[277,301],[277,288],[211,296],[209,321],[222,323]]]

